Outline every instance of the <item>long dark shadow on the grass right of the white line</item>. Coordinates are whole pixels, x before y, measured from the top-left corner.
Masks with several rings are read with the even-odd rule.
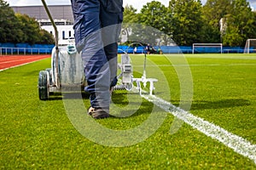
[[[250,105],[247,99],[221,99],[217,101],[195,100],[192,103],[190,111],[232,108],[237,106]]]

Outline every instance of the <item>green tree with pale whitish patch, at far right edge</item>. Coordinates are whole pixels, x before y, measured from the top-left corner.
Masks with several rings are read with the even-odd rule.
[[[207,0],[203,7],[205,42],[244,46],[256,37],[256,18],[247,0]]]

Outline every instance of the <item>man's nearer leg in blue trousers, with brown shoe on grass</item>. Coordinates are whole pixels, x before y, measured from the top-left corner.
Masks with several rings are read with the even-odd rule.
[[[76,46],[81,51],[84,73],[90,93],[90,105],[101,111],[94,116],[107,116],[109,110],[109,67],[104,53],[100,22],[100,2],[98,0],[72,0],[75,19]],[[103,110],[103,112],[102,112]]]

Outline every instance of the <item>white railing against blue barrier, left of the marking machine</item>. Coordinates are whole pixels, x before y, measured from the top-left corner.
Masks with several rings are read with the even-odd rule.
[[[52,48],[5,48],[0,47],[0,55],[7,54],[51,54]]]

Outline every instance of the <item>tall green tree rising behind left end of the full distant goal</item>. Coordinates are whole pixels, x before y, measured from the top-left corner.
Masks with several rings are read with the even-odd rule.
[[[200,0],[171,0],[173,40],[178,45],[202,41],[203,18]]]

